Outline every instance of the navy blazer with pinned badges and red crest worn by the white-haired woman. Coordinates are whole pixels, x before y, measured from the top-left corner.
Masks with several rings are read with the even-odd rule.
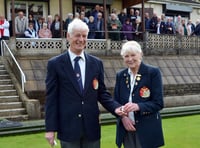
[[[130,75],[128,68],[121,70],[116,76],[114,98],[120,104],[129,102]],[[164,144],[161,117],[159,110],[164,106],[162,77],[158,68],[140,65],[132,91],[132,102],[139,105],[135,112],[135,127],[142,148],[156,148]],[[121,118],[117,121],[116,143],[121,147],[126,130]]]

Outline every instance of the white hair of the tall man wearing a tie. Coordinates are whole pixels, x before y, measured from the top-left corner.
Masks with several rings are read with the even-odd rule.
[[[89,32],[88,25],[85,22],[83,22],[82,20],[78,19],[78,18],[75,18],[71,23],[69,23],[67,33],[72,35],[74,29],[86,30],[87,34]]]

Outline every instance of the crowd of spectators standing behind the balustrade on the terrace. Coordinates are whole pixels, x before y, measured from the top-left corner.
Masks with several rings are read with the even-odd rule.
[[[105,20],[103,6],[100,5],[96,5],[91,11],[86,11],[85,6],[81,6],[75,14],[68,13],[66,19],[63,20],[58,14],[54,18],[49,15],[47,18],[41,16],[36,19],[32,14],[26,17],[20,11],[14,22],[9,24],[10,22],[1,15],[0,38],[2,36],[9,38],[9,31],[12,30],[11,25],[15,26],[15,34],[18,38],[61,38],[61,28],[66,32],[69,23],[74,18],[79,18],[88,25],[90,29],[88,39],[104,39],[104,24],[106,21],[108,35],[111,40],[142,40],[142,16],[138,9],[123,9],[120,13],[116,9],[112,9]],[[177,16],[174,21],[172,17],[165,17],[164,14],[157,16],[156,13],[152,17],[149,13],[145,13],[144,18],[145,30],[151,33],[200,35],[200,20],[198,19],[194,24],[191,20],[187,21],[181,17],[181,15]]]

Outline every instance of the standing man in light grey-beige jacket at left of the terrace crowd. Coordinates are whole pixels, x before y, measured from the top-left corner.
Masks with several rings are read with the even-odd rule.
[[[15,17],[15,33],[16,37],[24,37],[24,32],[28,28],[28,18],[24,16],[22,11],[18,12],[18,16]]]

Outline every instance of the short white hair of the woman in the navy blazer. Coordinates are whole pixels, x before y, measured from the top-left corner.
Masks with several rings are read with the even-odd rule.
[[[127,53],[133,53],[133,52],[143,54],[141,46],[138,42],[128,41],[122,46],[121,56],[124,57]]]

